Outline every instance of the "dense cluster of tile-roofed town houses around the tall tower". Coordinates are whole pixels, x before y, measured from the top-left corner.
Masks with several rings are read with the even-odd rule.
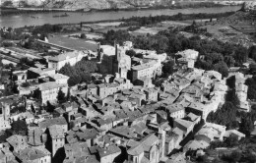
[[[71,61],[70,52],[66,58],[61,54],[49,59],[56,64],[49,62],[50,68],[13,72],[19,95],[0,99],[0,129],[10,129],[20,119],[29,131],[0,144],[1,162],[175,163],[185,160],[182,153],[189,149],[206,148],[211,141],[228,136],[244,136],[205,123],[208,114],[224,104],[227,86],[220,73],[194,68],[191,62],[197,52],[179,52],[188,61],[180,64],[186,66],[156,86],[152,80],[161,74],[164,55],[131,58],[125,54],[127,49],[132,49],[131,42],[102,47],[98,64],[108,65],[101,71],[110,75],[92,74],[92,83],[73,87],[67,84],[69,77],[57,73],[62,62],[81,60]],[[243,92],[238,88],[241,82],[237,80],[236,90]],[[56,104],[60,89],[74,100]],[[39,109],[47,102],[56,106],[52,113]],[[11,112],[17,106],[26,110]],[[192,134],[194,139],[186,141]]]

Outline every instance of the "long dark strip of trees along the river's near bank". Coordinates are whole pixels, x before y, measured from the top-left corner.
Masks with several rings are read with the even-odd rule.
[[[129,19],[123,19],[120,27],[130,27],[130,26],[148,26],[148,25],[154,25],[160,22],[164,21],[184,21],[184,20],[202,20],[202,19],[219,19],[223,17],[228,17],[230,15],[234,14],[234,12],[226,12],[226,13],[214,13],[214,14],[205,14],[205,13],[199,13],[199,14],[181,14],[178,13],[173,16],[155,16],[155,17],[132,17]]]

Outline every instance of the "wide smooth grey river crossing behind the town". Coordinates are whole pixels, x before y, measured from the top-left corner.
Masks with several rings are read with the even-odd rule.
[[[104,20],[118,20],[131,17],[148,17],[158,15],[175,15],[193,14],[193,13],[224,13],[237,11],[239,6],[225,6],[213,8],[189,8],[189,9],[162,9],[162,10],[138,10],[138,11],[98,11],[93,13],[68,13],[69,17],[53,18],[56,15],[63,15],[65,12],[49,12],[32,14],[33,18],[28,14],[0,16],[0,27],[25,27],[25,26],[40,26],[44,24],[75,24],[80,22],[94,22]]]

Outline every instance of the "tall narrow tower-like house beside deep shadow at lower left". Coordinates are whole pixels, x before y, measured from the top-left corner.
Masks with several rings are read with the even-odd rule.
[[[51,154],[52,157],[55,156],[59,148],[63,147],[65,144],[64,132],[59,125],[53,125],[48,127],[51,143]]]

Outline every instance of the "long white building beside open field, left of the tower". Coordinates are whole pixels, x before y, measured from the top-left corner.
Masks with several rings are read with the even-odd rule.
[[[82,51],[72,51],[59,54],[58,56],[48,58],[48,68],[59,71],[66,64],[74,66],[86,56]]]

